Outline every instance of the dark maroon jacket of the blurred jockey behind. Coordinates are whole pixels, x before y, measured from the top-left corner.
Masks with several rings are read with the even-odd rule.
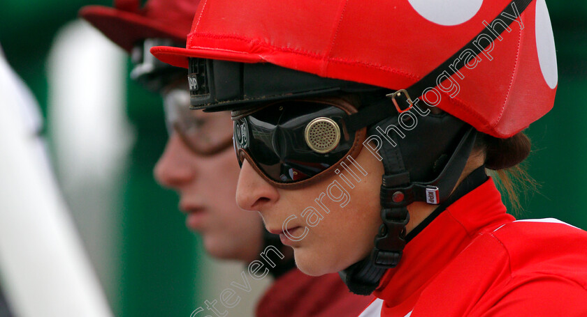
[[[338,274],[310,277],[294,268],[275,279],[257,304],[256,317],[356,317],[373,296],[349,292]]]

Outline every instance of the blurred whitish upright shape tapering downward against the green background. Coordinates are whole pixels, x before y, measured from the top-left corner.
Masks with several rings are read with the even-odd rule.
[[[126,116],[126,61],[122,49],[76,20],[59,30],[47,62],[57,178],[114,307],[121,305],[122,185],[135,139]]]

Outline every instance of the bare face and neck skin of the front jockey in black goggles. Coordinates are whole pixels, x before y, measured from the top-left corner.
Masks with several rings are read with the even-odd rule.
[[[356,161],[368,172],[361,178],[361,183],[349,190],[350,202],[341,208],[330,199],[324,199],[325,205],[331,210],[323,213],[317,226],[308,226],[301,212],[308,206],[317,208],[314,199],[326,190],[333,180],[339,180],[332,174],[328,178],[308,187],[297,190],[284,190],[273,187],[252,168],[249,162],[243,162],[236,200],[238,206],[245,210],[259,210],[268,231],[281,231],[287,217],[296,215],[296,219],[287,224],[286,229],[291,235],[300,236],[305,228],[309,229],[305,238],[300,241],[288,241],[293,247],[296,265],[307,275],[318,276],[338,272],[360,261],[370,254],[373,238],[381,224],[379,216],[379,187],[384,173],[382,163],[367,150],[362,150]],[[458,183],[484,162],[482,153],[470,156],[467,166]],[[458,184],[457,184],[458,185]],[[423,202],[408,206],[410,232],[423,221],[436,206]]]

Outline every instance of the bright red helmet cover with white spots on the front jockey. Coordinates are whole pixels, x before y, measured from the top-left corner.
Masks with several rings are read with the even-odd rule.
[[[546,114],[558,84],[544,0],[209,0],[186,48],[151,52],[184,68],[189,57],[272,63],[407,89],[500,138]]]

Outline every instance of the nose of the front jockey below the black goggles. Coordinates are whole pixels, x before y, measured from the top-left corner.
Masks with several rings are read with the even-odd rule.
[[[245,210],[259,210],[268,208],[279,199],[277,189],[267,183],[247,160],[242,162],[238,185],[236,187],[236,203]]]

